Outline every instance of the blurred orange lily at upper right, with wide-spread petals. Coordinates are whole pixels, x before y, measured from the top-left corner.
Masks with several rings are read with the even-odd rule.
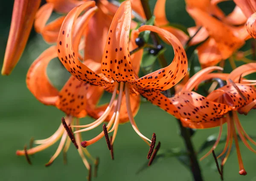
[[[188,7],[187,11],[209,34],[209,38],[197,47],[202,67],[216,65],[221,60],[229,58],[244,45],[248,38],[244,26],[227,25],[199,8]],[[203,37],[207,38],[207,36]]]

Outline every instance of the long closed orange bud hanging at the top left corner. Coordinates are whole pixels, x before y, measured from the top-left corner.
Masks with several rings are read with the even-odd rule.
[[[41,0],[15,0],[2,75],[9,75],[19,61],[29,38]]]

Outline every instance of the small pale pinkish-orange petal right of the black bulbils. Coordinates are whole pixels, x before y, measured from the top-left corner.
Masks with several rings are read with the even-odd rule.
[[[198,31],[199,26],[194,26],[194,27],[190,27],[188,28],[188,32],[189,32],[189,36],[193,37],[195,35],[195,33]],[[189,42],[189,45],[196,45],[198,43],[203,42],[204,40],[206,40],[209,37],[209,34],[207,32],[207,30],[204,27],[201,27],[201,29],[198,31],[198,33],[195,35],[195,37],[193,37],[191,39],[191,41]]]

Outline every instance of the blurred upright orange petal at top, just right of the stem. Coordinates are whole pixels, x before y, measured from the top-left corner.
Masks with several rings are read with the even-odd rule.
[[[155,25],[168,25],[169,21],[166,18],[166,0],[157,0],[154,7]]]

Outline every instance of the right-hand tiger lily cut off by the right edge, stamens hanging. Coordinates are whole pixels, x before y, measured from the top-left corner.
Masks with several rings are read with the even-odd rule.
[[[192,85],[195,85],[200,83],[201,81],[204,81],[209,78],[214,78],[214,77],[227,81],[227,85],[221,88],[218,88],[215,91],[212,91],[206,97],[206,99],[208,101],[215,102],[215,106],[213,107],[214,112],[222,111],[223,108],[221,107],[221,105],[224,105],[226,107],[225,109],[229,110],[229,113],[222,114],[223,117],[221,117],[218,120],[215,120],[215,124],[207,124],[207,122],[201,122],[200,123],[201,127],[196,127],[196,128],[199,128],[199,129],[210,128],[215,126],[220,127],[219,135],[215,144],[213,145],[211,150],[209,150],[209,152],[201,158],[202,160],[206,158],[209,154],[211,154],[212,150],[214,150],[217,147],[221,139],[222,125],[225,122],[227,122],[226,144],[223,152],[218,157],[224,155],[224,153],[227,152],[226,156],[224,157],[224,160],[222,161],[222,165],[224,165],[225,162],[227,161],[227,157],[230,154],[232,142],[234,139],[236,144],[237,156],[239,159],[240,175],[246,175],[247,173],[244,170],[244,165],[241,159],[241,153],[239,150],[239,143],[238,143],[238,138],[236,134],[236,129],[238,131],[239,137],[244,142],[246,147],[249,150],[253,151],[254,153],[256,153],[256,151],[253,150],[253,148],[250,146],[250,144],[248,144],[246,139],[251,141],[253,144],[256,144],[256,142],[253,141],[250,138],[250,136],[248,136],[248,134],[244,131],[236,112],[247,114],[250,111],[250,109],[254,108],[254,106],[256,105],[256,93],[255,93],[256,89],[250,85],[246,85],[248,82],[246,82],[246,79],[242,78],[242,76],[246,76],[248,74],[254,73],[255,71],[256,71],[256,63],[250,63],[250,64],[242,65],[239,68],[236,68],[228,76],[226,74],[222,75],[222,74],[212,73],[212,75],[208,74],[207,76],[201,76],[199,80],[197,79],[195,82],[192,81],[192,83],[190,83]],[[239,83],[239,80],[240,80],[240,83]],[[244,82],[241,82],[241,80]],[[237,82],[237,83],[234,83],[234,82]],[[252,82],[252,81],[250,80],[249,82]],[[250,83],[250,84],[253,85],[254,83]],[[189,122],[189,124],[186,124],[186,125],[187,127],[192,127],[192,128],[195,127],[194,122]]]

